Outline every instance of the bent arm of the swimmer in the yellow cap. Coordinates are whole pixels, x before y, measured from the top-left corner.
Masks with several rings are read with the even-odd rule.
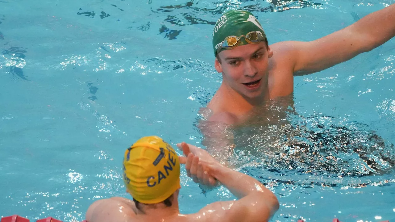
[[[216,178],[222,185],[238,198],[236,201],[219,201],[207,205],[194,216],[206,218],[205,221],[265,222],[269,221],[278,210],[276,196],[259,181],[222,166],[207,152],[198,147],[191,147],[188,162],[194,162],[205,173]],[[196,155],[195,155],[196,154]],[[198,156],[202,156],[199,159]]]

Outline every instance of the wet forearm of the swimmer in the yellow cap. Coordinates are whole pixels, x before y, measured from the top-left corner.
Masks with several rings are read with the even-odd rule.
[[[274,194],[265,188],[258,180],[224,166],[218,165],[215,167],[212,176],[239,199],[256,192],[262,192],[268,198],[273,198],[274,196]]]

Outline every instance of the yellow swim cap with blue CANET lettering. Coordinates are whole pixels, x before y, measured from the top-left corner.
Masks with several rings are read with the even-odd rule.
[[[178,155],[158,136],[142,137],[125,151],[123,173],[126,188],[141,203],[160,203],[181,188]]]

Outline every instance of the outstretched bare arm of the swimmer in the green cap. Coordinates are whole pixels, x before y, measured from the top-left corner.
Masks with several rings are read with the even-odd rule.
[[[371,51],[395,36],[395,4],[366,15],[359,21],[309,42],[285,41],[273,44],[294,63],[294,75],[325,70]]]

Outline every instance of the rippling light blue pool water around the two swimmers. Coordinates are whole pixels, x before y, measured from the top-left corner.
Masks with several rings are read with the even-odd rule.
[[[139,137],[200,145],[199,108],[221,83],[211,33],[222,12],[253,11],[275,43],[320,38],[393,3],[1,0],[0,216],[82,221],[94,200],[128,197],[122,155]],[[292,135],[319,155],[282,140],[276,146],[286,158],[267,151],[265,136],[281,129],[239,139],[238,149],[259,151],[243,156],[240,170],[278,196],[273,221],[395,219],[394,63],[392,39],[295,77],[298,115],[288,128],[304,126]],[[201,194],[184,171],[181,181],[182,213],[234,198],[222,187]]]

